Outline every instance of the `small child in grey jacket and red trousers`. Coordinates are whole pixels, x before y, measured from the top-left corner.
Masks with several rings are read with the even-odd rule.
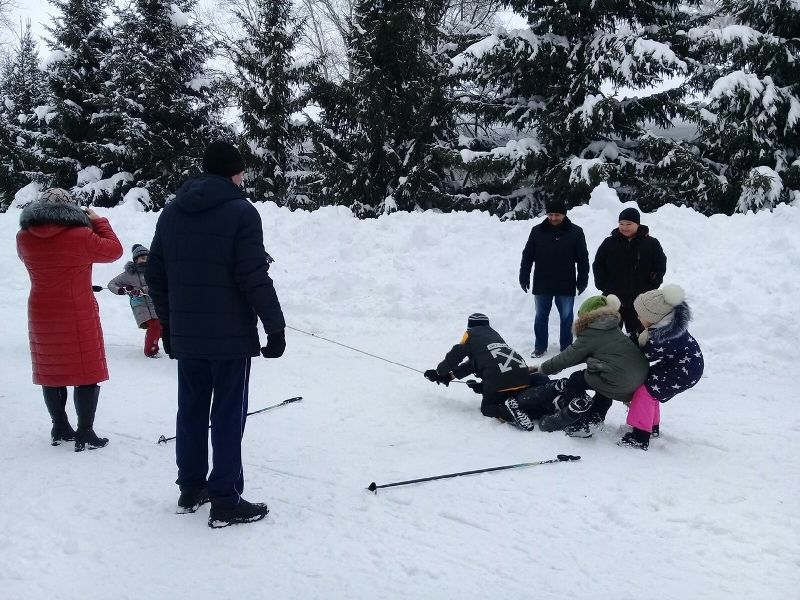
[[[144,270],[147,255],[150,251],[141,244],[134,244],[131,249],[133,260],[125,265],[125,271],[108,282],[108,289],[120,296],[130,296],[131,310],[136,324],[146,329],[144,336],[144,355],[149,358],[158,356],[158,340],[161,337],[161,323],[156,316],[156,308],[147,294],[147,282]]]

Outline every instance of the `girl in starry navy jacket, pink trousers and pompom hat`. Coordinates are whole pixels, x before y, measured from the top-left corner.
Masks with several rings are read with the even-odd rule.
[[[650,435],[658,435],[659,403],[694,387],[703,375],[703,353],[688,331],[692,313],[684,298],[679,286],[665,285],[639,294],[633,302],[644,331],[631,334],[631,339],[651,365],[631,399],[627,422],[633,431],[620,440],[621,446],[647,450]]]

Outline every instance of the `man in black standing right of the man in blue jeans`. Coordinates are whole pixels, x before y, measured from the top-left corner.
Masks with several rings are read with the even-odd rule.
[[[619,214],[619,227],[600,244],[592,271],[595,287],[604,296],[614,294],[620,299],[625,330],[641,330],[633,301],[639,294],[658,289],[667,272],[667,257],[649,228],[641,224],[638,210],[628,207]]]

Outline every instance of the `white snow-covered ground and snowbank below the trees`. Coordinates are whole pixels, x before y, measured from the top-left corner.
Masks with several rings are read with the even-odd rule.
[[[517,269],[538,221],[259,210],[291,326],[424,370],[482,311],[530,352],[533,303]],[[592,255],[619,210],[602,187],[570,212]],[[149,243],[156,214],[98,212],[125,260]],[[688,293],[706,357],[697,387],[664,406],[648,452],[615,445],[620,404],[588,440],[525,433],[482,417],[464,385],[288,331],[283,359],[254,359],[251,409],[304,400],[251,418],[244,441],[245,497],[271,512],[222,530],[207,527],[207,506],[174,512],[173,446],[155,442],[174,430],[176,363],[143,356],[123,298],[98,294],[111,379],[96,429],[111,443],[82,454],[49,445],[30,379],[18,218],[0,215],[3,599],[797,597],[798,207],[643,216],[669,258],[666,281]],[[95,283],[123,263],[97,266]],[[365,491],[558,453],[583,458]]]

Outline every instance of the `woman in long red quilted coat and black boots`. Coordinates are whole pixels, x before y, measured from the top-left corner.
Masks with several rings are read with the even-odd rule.
[[[94,432],[100,388],[108,379],[100,313],[92,292],[92,264],[114,262],[122,245],[108,219],[81,209],[66,190],[52,188],[22,211],[17,254],[31,278],[28,337],[33,382],[42,386],[53,420],[52,444],[75,440],[75,451],[102,448]],[[75,386],[78,430],[66,413]]]

